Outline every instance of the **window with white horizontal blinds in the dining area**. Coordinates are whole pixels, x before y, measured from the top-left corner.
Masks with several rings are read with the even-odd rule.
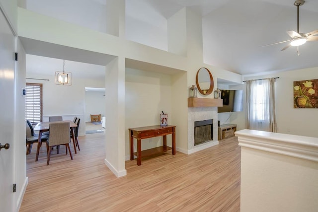
[[[42,84],[26,83],[25,119],[42,122]]]

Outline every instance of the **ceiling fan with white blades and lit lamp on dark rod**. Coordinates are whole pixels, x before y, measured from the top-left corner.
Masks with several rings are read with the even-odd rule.
[[[265,46],[289,42],[289,44],[285,46],[281,51],[284,51],[290,46],[297,46],[297,52],[299,55],[299,46],[303,45],[307,41],[318,41],[318,36],[314,36],[318,34],[318,29],[306,34],[299,32],[299,6],[303,5],[304,3],[305,3],[305,0],[296,0],[294,2],[294,5],[297,6],[297,32],[295,32],[294,30],[287,31],[287,34],[291,37],[291,39],[287,41],[268,44]]]

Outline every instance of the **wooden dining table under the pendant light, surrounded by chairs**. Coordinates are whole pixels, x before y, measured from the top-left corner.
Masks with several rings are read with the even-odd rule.
[[[70,123],[71,136],[72,136],[72,139],[73,139],[75,153],[77,154],[76,144],[75,144],[75,133],[74,133],[74,129],[77,127],[77,124],[75,124],[73,121],[69,121],[69,120],[56,121],[56,122],[39,122],[34,127],[35,131],[39,131],[38,146],[37,146],[37,149],[36,149],[35,161],[38,161],[38,159],[39,159],[39,152],[40,152],[40,147],[41,147],[41,144],[42,144],[42,140],[41,140],[42,139],[42,134],[44,132],[48,132],[49,131],[51,123],[61,123],[61,122],[69,122]]]

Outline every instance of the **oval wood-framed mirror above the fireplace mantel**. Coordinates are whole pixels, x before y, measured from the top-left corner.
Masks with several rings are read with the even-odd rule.
[[[208,95],[212,93],[214,87],[214,81],[211,72],[207,68],[201,68],[197,72],[196,76],[198,91],[202,95]]]

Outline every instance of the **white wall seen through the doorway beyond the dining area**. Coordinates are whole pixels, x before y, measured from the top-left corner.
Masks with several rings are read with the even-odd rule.
[[[90,115],[105,116],[105,91],[85,91],[85,122],[90,122]]]

